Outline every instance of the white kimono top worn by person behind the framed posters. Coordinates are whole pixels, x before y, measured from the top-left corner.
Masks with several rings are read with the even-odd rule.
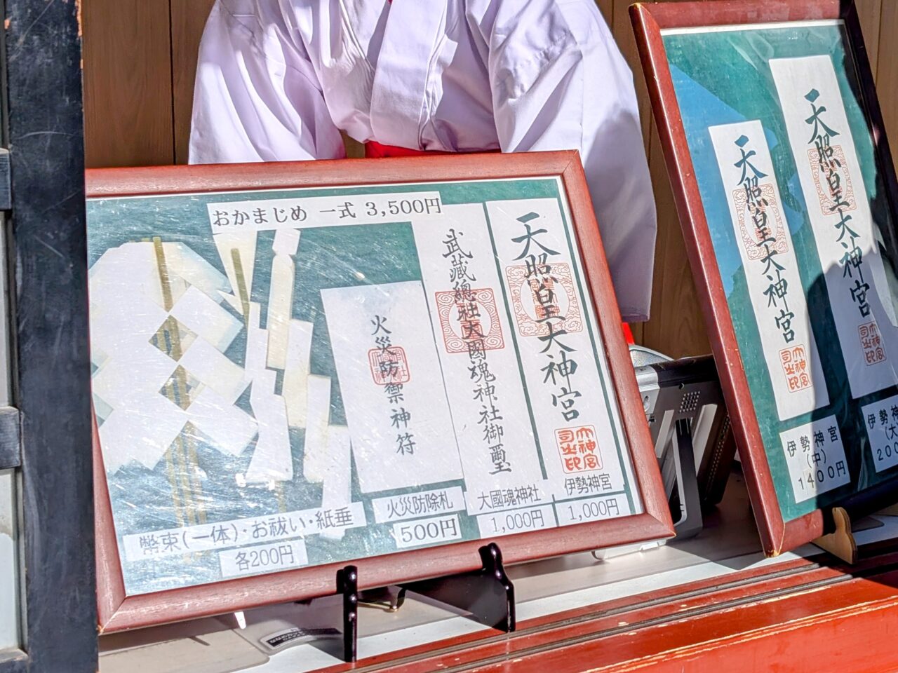
[[[647,319],[655,203],[632,74],[593,0],[218,0],[191,163],[412,149],[580,151],[624,319]]]

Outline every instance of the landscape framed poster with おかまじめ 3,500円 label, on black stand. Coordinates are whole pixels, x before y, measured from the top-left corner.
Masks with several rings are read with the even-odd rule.
[[[577,153],[87,195],[104,631],[673,535]]]

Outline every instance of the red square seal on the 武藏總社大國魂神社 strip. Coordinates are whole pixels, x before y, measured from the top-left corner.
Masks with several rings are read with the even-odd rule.
[[[436,293],[436,312],[446,353],[468,353],[471,348],[505,348],[496,297],[489,288],[466,293]]]

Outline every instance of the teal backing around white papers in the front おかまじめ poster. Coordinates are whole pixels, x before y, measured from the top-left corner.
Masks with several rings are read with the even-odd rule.
[[[561,206],[563,198],[559,192],[559,183],[555,179],[96,198],[87,203],[89,267],[93,267],[107,250],[128,242],[158,237],[163,242],[179,241],[187,244],[200,258],[224,273],[219,252],[212,240],[207,203],[287,197],[348,197],[397,191],[403,193],[436,191],[440,193],[444,205],[506,199],[553,198],[557,199]],[[561,208],[561,212],[564,214],[564,207]],[[274,258],[272,250],[274,232],[261,231],[258,232],[258,237],[250,300],[261,305],[261,327],[264,328],[269,277]],[[488,250],[474,252],[492,254]],[[292,318],[313,323],[311,373],[329,377],[331,380],[330,424],[346,424],[339,377],[330,348],[328,325],[321,302],[321,289],[420,281],[418,251],[411,225],[397,222],[306,228],[302,232],[299,250],[295,256],[295,268]],[[583,279],[577,277],[577,281],[581,292],[585,291]],[[239,317],[236,312],[232,313],[234,317]],[[601,348],[597,334],[593,335],[593,343],[594,348]],[[243,366],[245,347],[245,331],[242,331],[225,355],[233,363]],[[605,383],[607,385],[608,382]],[[612,389],[591,392],[595,395],[604,392],[609,403],[614,404]],[[249,391],[245,392],[236,404],[249,413],[251,407],[248,398]],[[193,439],[197,447],[197,462],[203,475],[202,494],[198,498],[202,501],[209,525],[216,521],[246,517],[276,517],[279,511],[299,511],[321,505],[321,485],[309,483],[302,477],[304,431],[291,428],[290,433],[295,478],[292,482],[285,483],[283,493],[280,495],[265,488],[239,487],[235,484],[234,475],[244,474],[249,467],[252,444],[240,455],[230,456],[216,450],[214,443],[201,433],[195,433]],[[622,455],[625,441],[621,437],[616,437],[615,440],[619,458],[621,461],[627,460]],[[304,538],[309,565],[348,561],[399,551],[392,538],[392,522],[375,523],[371,504],[373,498],[464,485],[461,480],[431,484],[424,478],[423,481],[427,485],[420,488],[362,494],[355,466],[352,467],[351,473],[353,501],[363,503],[368,524],[363,528],[346,530],[341,539],[327,539],[318,535]],[[107,474],[107,482],[119,545],[125,535],[180,528],[181,524],[176,520],[172,504],[172,485],[166,472],[165,459],[152,470],[132,461],[119,468],[116,473]],[[629,482],[626,483],[626,494],[632,505],[631,488]],[[282,498],[280,502],[279,497]],[[574,502],[576,501],[566,501],[566,503]],[[543,501],[541,504],[545,503],[547,502]],[[454,513],[458,514],[461,524],[462,540],[479,539],[480,530],[475,517],[463,510]],[[183,525],[189,525],[189,522]],[[259,539],[247,544],[260,545],[267,541]],[[241,548],[244,548],[244,545],[241,545]],[[193,553],[190,555],[189,564],[185,563],[184,555],[162,556],[136,562],[128,561],[123,556],[122,570],[126,592],[128,595],[135,595],[220,581],[222,575],[216,551]],[[247,573],[250,574],[252,573]]]

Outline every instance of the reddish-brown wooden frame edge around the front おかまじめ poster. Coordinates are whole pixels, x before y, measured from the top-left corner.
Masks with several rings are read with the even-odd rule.
[[[518,563],[598,546],[625,545],[674,535],[636,377],[621,334],[620,310],[614,298],[592,201],[576,152],[98,169],[86,171],[85,179],[86,196],[99,198],[542,176],[560,177],[567,191],[644,512],[617,520],[498,538],[497,543],[502,548],[506,563]],[[101,632],[225,614],[271,603],[310,599],[335,591],[336,573],[345,565],[343,563],[127,597],[96,432],[93,457]],[[375,556],[352,563],[357,565],[360,587],[378,587],[397,581],[475,570],[480,567],[477,549],[488,542],[489,539],[472,540]]]

